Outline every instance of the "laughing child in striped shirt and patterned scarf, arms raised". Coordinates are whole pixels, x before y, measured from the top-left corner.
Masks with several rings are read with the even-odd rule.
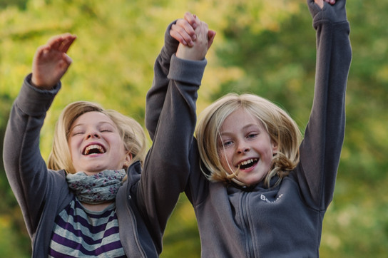
[[[198,20],[195,33],[193,47],[179,51],[180,70],[169,81],[173,99],[199,85],[197,77],[185,75],[206,66],[207,24]],[[133,118],[78,101],[63,109],[46,165],[39,134],[71,65],[67,51],[75,39],[66,33],[38,48],[4,138],[4,167],[32,239],[32,257],[158,257],[187,183],[178,172],[188,164],[193,131],[173,119],[178,111],[166,110],[160,118],[170,123],[154,131],[145,155],[145,134]],[[189,112],[193,103],[182,102],[180,111]],[[187,126],[194,128],[195,120]]]

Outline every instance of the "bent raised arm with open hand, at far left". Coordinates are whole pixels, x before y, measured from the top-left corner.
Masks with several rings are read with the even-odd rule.
[[[71,43],[67,41],[68,43],[62,45],[61,38],[68,39],[67,36],[57,36],[36,51],[33,74],[24,80],[12,106],[4,136],[6,175],[21,206],[30,235],[34,234],[38,226],[42,205],[45,204],[44,196],[51,185],[50,180],[53,179],[48,176],[46,163],[41,157],[39,134],[46,111],[61,88],[59,79],[71,63],[63,55]],[[34,81],[34,86],[31,81]]]

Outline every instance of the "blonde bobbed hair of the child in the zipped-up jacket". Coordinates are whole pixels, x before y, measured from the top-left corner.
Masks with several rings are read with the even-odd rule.
[[[265,185],[270,187],[271,178],[278,175],[279,180],[275,184],[277,185],[299,162],[302,134],[285,110],[270,100],[252,94],[230,93],[216,100],[200,114],[195,135],[200,158],[210,174],[205,172],[204,168],[201,170],[211,181],[233,181],[238,185],[245,185],[237,179],[238,171],[229,174],[223,168],[218,152],[220,128],[228,115],[240,108],[257,118],[267,130],[272,143],[277,145],[277,153],[272,158],[272,166],[264,179]]]

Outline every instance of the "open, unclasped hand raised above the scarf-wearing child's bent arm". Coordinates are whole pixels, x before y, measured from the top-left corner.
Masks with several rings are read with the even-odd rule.
[[[61,80],[71,64],[66,54],[76,36],[70,33],[53,36],[46,45],[40,46],[32,62],[31,83],[36,87],[49,90]]]

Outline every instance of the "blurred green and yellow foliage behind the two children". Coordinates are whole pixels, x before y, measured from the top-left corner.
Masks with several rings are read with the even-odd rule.
[[[68,51],[73,64],[41,131],[43,157],[48,157],[58,114],[75,100],[96,101],[143,125],[165,29],[185,11],[217,31],[198,113],[225,93],[256,93],[285,108],[303,131],[315,76],[315,30],[305,0],[0,0],[1,146],[11,104],[31,72],[36,48],[64,32],[78,38]],[[347,1],[353,50],[347,128],[335,197],[323,224],[324,258],[388,254],[387,12],[388,1]],[[2,159],[0,196],[0,257],[31,257]],[[161,257],[200,257],[195,215],[185,195],[163,242]]]

